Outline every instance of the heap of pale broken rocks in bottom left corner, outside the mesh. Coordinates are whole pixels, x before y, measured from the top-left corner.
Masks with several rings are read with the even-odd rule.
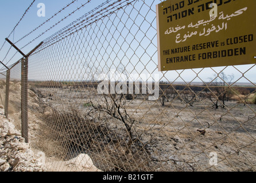
[[[3,108],[3,106],[0,106]],[[44,172],[45,155],[33,152],[0,109],[0,172]]]

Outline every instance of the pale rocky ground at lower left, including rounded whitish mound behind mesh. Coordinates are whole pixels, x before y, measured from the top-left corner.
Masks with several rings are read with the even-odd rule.
[[[0,172],[54,172],[56,167],[64,172],[101,172],[87,154],[79,154],[68,161],[55,161],[46,158],[43,152],[32,150],[15,129],[13,120],[5,118],[2,108],[0,105]]]

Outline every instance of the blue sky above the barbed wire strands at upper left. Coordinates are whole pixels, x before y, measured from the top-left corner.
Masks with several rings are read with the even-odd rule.
[[[1,22],[1,29],[0,29],[0,48],[2,47],[3,43],[5,42],[5,38],[9,36],[11,31],[14,29],[15,25],[20,21],[22,15],[25,13],[25,10],[30,6],[32,0],[9,0],[4,1],[0,0],[0,22]],[[24,37],[24,35],[30,33],[34,28],[41,25],[41,23],[45,22],[47,19],[51,18],[52,15],[57,13],[59,10],[63,9],[63,7],[67,6],[71,3],[72,0],[36,0],[32,7],[28,10],[25,14],[22,21],[18,24],[15,28],[14,33],[12,33],[9,37],[10,41],[17,42],[19,39]],[[22,39],[20,42],[16,43],[15,45],[18,48],[24,47],[28,42],[32,41],[38,35],[43,33],[45,30],[49,29],[50,26],[55,25],[55,23],[59,22],[69,13],[85,3],[84,0],[77,0],[75,3],[72,3],[68,6],[65,10],[61,11],[56,17],[52,18],[49,22],[45,23],[39,29],[34,31],[34,33],[30,34],[28,37]],[[87,13],[91,9],[95,8],[96,6],[100,5],[100,3],[104,2],[103,0],[91,1],[87,3],[82,9],[76,11],[76,13],[72,14],[72,16],[68,17],[57,26],[53,27],[53,29],[49,30],[47,33],[42,35],[40,38],[36,39],[28,46],[24,47],[21,51],[24,54],[27,54],[30,50],[32,50],[35,46],[37,46],[41,41],[45,38],[48,38],[50,35],[56,33],[56,31],[62,29],[75,19],[81,17],[83,14]],[[45,5],[45,17],[38,17],[37,11],[40,10],[40,7],[37,7],[38,3],[44,3]],[[9,43],[5,43],[0,51],[0,61],[3,63],[7,63],[10,65],[18,61],[18,59],[22,58],[21,54],[16,54],[13,57],[13,54],[16,52],[13,48],[9,51],[9,54],[6,56],[6,53],[10,49]],[[13,58],[12,58],[13,57]],[[11,59],[11,61],[10,61]],[[0,67],[1,68],[1,67]]]

